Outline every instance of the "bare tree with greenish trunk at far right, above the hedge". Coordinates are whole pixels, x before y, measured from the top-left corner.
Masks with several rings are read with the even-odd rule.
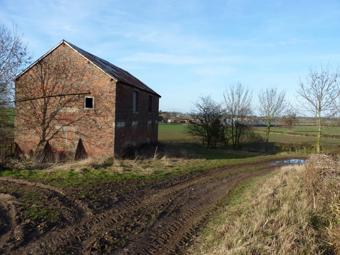
[[[338,119],[340,90],[337,82],[340,76],[339,66],[333,70],[329,64],[321,69],[308,68],[305,81],[299,78],[297,84],[297,105],[299,113],[311,119],[318,127],[317,151],[321,151],[321,137],[329,134]],[[331,121],[329,126],[324,126]]]

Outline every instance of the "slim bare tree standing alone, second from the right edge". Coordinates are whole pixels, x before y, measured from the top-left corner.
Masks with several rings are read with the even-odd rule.
[[[277,91],[277,87],[267,86],[258,94],[258,111],[267,121],[266,150],[268,150],[269,132],[271,123],[280,117],[286,109],[286,91]]]

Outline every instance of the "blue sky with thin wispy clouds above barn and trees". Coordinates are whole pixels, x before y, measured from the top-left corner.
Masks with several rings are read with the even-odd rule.
[[[34,60],[62,39],[129,71],[162,96],[163,111],[222,99],[241,81],[294,98],[296,79],[340,60],[340,1],[0,0]]]

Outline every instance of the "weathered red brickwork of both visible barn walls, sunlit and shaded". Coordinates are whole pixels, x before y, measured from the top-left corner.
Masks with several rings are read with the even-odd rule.
[[[72,89],[67,91],[79,93],[90,91],[90,94],[51,98],[50,106],[47,107],[47,115],[56,111],[59,106],[56,120],[51,121],[49,127],[52,131],[46,135],[46,140],[49,141],[52,150],[72,155],[75,153],[79,139],[82,140],[88,155],[123,153],[129,147],[139,147],[149,140],[153,144],[157,143],[158,123],[155,123],[155,120],[158,116],[158,95],[150,94],[148,91],[129,84],[116,82],[68,45],[61,44],[41,62],[56,59],[72,62],[69,66],[73,69],[77,67],[75,68],[77,72],[72,73],[70,83],[58,85],[58,88],[66,91],[62,89],[62,86],[69,86]],[[24,83],[27,84],[28,81],[31,92],[33,91],[32,95],[42,96],[41,90],[38,88],[35,90],[33,86],[35,81],[32,80],[32,73],[37,68],[38,65],[33,66],[16,81],[17,101],[20,101],[22,94],[25,93],[21,86]],[[139,91],[138,114],[132,112],[134,89]],[[56,91],[55,94],[60,93]],[[148,112],[149,95],[153,96],[150,114]],[[94,109],[84,109],[84,96],[94,97]],[[60,98],[62,98],[62,103]],[[41,142],[39,121],[33,113],[30,116],[30,107],[32,107],[30,101],[16,103],[15,142],[26,154],[35,152]],[[27,128],[29,126],[27,121],[30,118],[30,123],[34,125],[32,128]],[[152,120],[149,125],[148,120]],[[125,125],[119,127],[117,121],[124,121]],[[132,125],[132,121],[137,121],[137,124],[134,122],[135,125]]]

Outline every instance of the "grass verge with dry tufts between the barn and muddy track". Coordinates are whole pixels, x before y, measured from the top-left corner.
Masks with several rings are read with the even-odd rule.
[[[87,158],[67,164],[55,162],[41,164],[39,160],[34,162],[33,159],[24,162],[13,161],[11,167],[0,170],[0,176],[40,179],[44,183],[59,186],[98,184],[120,179],[165,179],[183,173],[276,160],[289,155],[199,148],[192,149],[191,152],[188,150],[179,152],[171,148],[163,150],[164,152],[159,149],[156,157],[144,155],[137,156],[135,159],[122,159],[107,156]]]

